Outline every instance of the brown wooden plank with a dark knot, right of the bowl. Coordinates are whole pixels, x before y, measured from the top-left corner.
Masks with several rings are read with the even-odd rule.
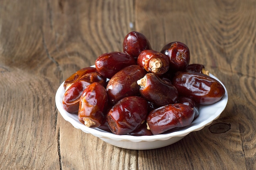
[[[255,10],[248,10],[252,8],[252,1],[135,1],[135,28],[154,49],[184,42],[191,51],[191,63],[204,64],[229,92],[229,103],[218,120],[168,147],[139,151],[139,169],[255,167],[256,22]],[[229,126],[223,133],[209,130]]]

